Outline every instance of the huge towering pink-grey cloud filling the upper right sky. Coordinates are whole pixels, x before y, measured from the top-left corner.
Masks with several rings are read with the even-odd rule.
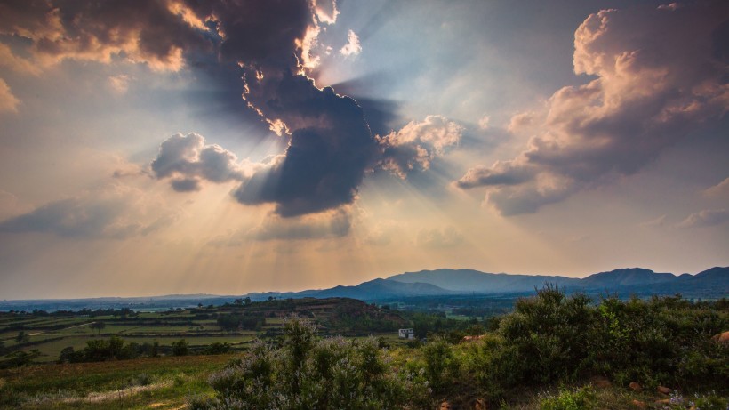
[[[728,14],[713,1],[590,15],[575,32],[573,64],[597,78],[555,92],[524,152],[473,167],[458,186],[486,187],[486,201],[510,215],[637,173],[729,109]]]

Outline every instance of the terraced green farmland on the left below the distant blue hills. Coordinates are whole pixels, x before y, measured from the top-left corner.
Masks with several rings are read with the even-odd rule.
[[[217,308],[193,308],[159,312],[73,312],[48,316],[43,313],[0,312],[0,342],[5,354],[12,351],[38,350],[38,363],[57,361],[60,351],[68,347],[83,350],[88,342],[108,340],[112,335],[125,343],[140,345],[159,343],[160,354],[170,354],[173,342],[184,339],[193,353],[201,352],[212,343],[228,343],[233,350],[244,350],[256,338],[275,337],[280,334],[284,318],[292,314],[316,318],[324,334],[364,336],[377,334],[397,335],[397,326],[405,321],[393,314],[382,313],[361,301],[352,300],[298,300],[267,301],[246,305],[228,305]],[[227,328],[220,326],[220,318],[229,315],[261,319],[256,329]],[[385,332],[377,322],[378,316],[392,322]],[[347,326],[340,323],[347,319]],[[359,322],[365,323],[358,326]],[[389,323],[388,322],[388,323]],[[102,328],[94,324],[102,323]],[[26,338],[20,340],[19,334]],[[19,343],[20,341],[20,343]],[[397,336],[391,342],[396,342]]]

